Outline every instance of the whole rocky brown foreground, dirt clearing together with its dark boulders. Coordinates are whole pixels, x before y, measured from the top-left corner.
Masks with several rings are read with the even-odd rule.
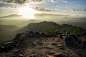
[[[22,37],[15,48],[10,50],[6,47],[9,51],[2,52],[0,57],[86,57],[86,38],[72,34],[43,35]]]

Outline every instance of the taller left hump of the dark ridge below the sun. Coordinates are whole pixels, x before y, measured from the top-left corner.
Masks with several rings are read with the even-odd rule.
[[[26,32],[29,30],[43,32],[44,28],[55,27],[57,28],[59,25],[54,22],[40,22],[40,23],[30,23],[27,26],[23,27],[19,30],[19,32]]]

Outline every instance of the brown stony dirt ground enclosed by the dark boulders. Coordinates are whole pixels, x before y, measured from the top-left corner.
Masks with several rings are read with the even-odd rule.
[[[66,47],[64,40],[57,37],[26,38],[0,57],[86,57],[86,50]]]

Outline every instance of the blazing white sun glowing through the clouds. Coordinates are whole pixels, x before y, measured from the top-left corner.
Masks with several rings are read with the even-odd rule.
[[[18,12],[19,12],[19,15],[22,15],[24,18],[27,18],[27,19],[34,19],[35,13],[41,13],[41,12],[38,12],[28,6],[20,7],[18,9]]]

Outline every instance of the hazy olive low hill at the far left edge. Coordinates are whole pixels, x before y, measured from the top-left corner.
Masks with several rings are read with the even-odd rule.
[[[14,25],[0,25],[0,42],[12,40],[19,28]]]

